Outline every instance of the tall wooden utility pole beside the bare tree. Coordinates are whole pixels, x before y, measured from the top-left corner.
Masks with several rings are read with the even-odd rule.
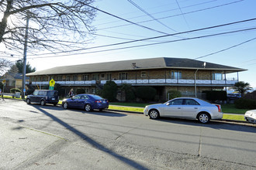
[[[28,43],[28,33],[29,33],[29,13],[26,15],[26,32],[25,32],[25,43],[23,52],[23,71],[22,71],[22,99],[25,99],[26,93],[26,49]]]

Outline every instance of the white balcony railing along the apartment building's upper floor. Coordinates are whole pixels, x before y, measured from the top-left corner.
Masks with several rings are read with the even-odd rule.
[[[233,85],[237,83],[237,80],[185,80],[185,79],[147,79],[147,80],[113,80],[116,84],[128,83],[128,84],[227,84]],[[105,84],[107,80],[101,80],[101,84]],[[55,81],[55,83],[59,83],[61,85],[92,85],[96,83],[96,80],[87,80],[87,81]],[[32,82],[34,85],[47,85],[48,81],[38,81]]]

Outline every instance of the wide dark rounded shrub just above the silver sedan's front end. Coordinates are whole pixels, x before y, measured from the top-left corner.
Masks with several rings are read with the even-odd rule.
[[[154,87],[137,87],[136,96],[144,101],[154,100],[157,90]]]

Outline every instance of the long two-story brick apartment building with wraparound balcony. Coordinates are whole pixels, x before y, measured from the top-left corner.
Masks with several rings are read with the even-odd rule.
[[[195,59],[152,58],[90,63],[75,66],[58,66],[48,70],[28,73],[33,86],[43,87],[51,79],[61,84],[66,93],[73,88],[83,88],[95,93],[106,81],[113,80],[133,87],[150,86],[157,89],[161,100],[167,100],[168,90],[178,90],[183,96],[200,97],[203,90],[223,90],[238,81],[238,72],[244,69],[204,63]],[[227,79],[227,74],[237,73],[237,78]]]

